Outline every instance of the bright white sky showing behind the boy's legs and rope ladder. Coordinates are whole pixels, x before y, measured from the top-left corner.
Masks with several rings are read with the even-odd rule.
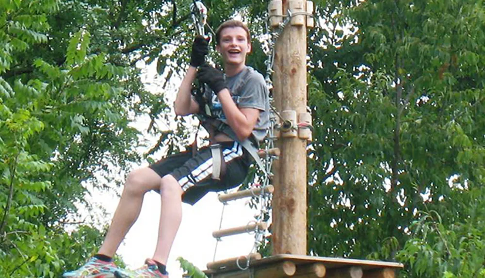
[[[156,62],[146,67],[146,73],[142,75],[142,80],[148,91],[157,93],[157,89],[161,87],[164,80],[156,73]],[[175,99],[176,91],[173,90],[178,90],[179,82],[172,82],[168,86],[167,90],[171,93],[167,93],[167,96],[173,96]],[[174,99],[170,99],[169,103],[173,103]],[[148,121],[141,120],[141,123],[137,123],[137,126],[146,130]],[[153,146],[157,139],[151,138],[151,144],[148,144],[147,149]],[[145,152],[147,149],[140,151]],[[147,165],[146,163],[134,165],[134,168]],[[105,208],[108,213],[106,221],[110,222],[119,198],[110,193],[92,192],[89,199],[92,203],[100,204]],[[228,203],[224,209],[222,229],[243,226],[254,220],[257,211],[251,210],[246,202],[247,200],[238,200]],[[194,263],[201,270],[206,269],[206,264],[211,262],[214,256],[216,240],[212,237],[212,231],[219,229],[222,208],[223,204],[217,199],[216,193],[209,193],[194,206],[182,205],[182,223],[167,263],[167,271],[170,277],[182,276],[180,264],[176,261],[178,257],[183,257]],[[89,214],[96,215],[97,213],[89,212]],[[149,192],[145,195],[142,212],[137,222],[130,229],[117,252],[118,255],[123,257],[128,268],[134,269],[143,265],[145,259],[151,258],[153,255],[158,235],[159,215],[160,196],[154,192]],[[218,244],[215,259],[217,261],[247,255],[253,245],[254,235],[251,234],[223,238]]]

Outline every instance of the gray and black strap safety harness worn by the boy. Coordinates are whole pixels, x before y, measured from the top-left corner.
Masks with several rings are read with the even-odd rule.
[[[231,95],[232,100],[236,105],[239,104],[241,90],[246,85],[248,77],[253,71],[254,69],[252,67],[246,66],[243,69],[241,76],[234,84],[233,89],[231,90]],[[241,146],[253,158],[256,164],[258,164],[261,171],[263,171],[263,173],[267,175],[264,164],[262,163],[258,155],[259,142],[258,140],[256,140],[256,138],[254,138],[253,134],[251,134],[249,138],[241,141],[238,139],[236,133],[231,129],[229,125],[214,117],[213,113],[211,112],[212,104],[210,103],[210,101],[212,100],[212,95],[214,94],[213,92],[211,92],[211,96],[204,96],[204,94],[207,94],[205,92],[205,89],[199,88],[198,90],[192,91],[192,94],[194,95],[195,100],[200,106],[200,111],[196,114],[196,116],[199,119],[201,125],[211,135],[215,135],[216,133],[223,133],[227,137],[231,138],[233,141],[241,144]],[[210,150],[212,154],[212,179],[221,180],[221,177],[224,176],[226,169],[224,155],[221,150],[221,144],[217,142],[210,142]]]

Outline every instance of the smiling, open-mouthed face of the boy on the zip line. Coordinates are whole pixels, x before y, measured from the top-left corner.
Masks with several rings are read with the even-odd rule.
[[[221,53],[226,65],[244,65],[246,54],[251,52],[251,43],[246,31],[239,26],[221,30],[216,50]]]

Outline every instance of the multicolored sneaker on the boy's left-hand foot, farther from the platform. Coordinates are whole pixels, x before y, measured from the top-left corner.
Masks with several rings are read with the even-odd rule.
[[[120,270],[114,262],[104,262],[91,258],[79,269],[65,272],[63,278],[114,278],[114,272]]]

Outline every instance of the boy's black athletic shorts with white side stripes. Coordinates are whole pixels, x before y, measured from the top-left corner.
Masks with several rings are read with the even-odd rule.
[[[184,191],[182,201],[193,205],[210,191],[222,191],[236,187],[244,181],[251,157],[238,142],[220,143],[226,162],[226,173],[221,180],[212,179],[212,153],[210,147],[202,147],[193,156],[185,151],[168,156],[148,167],[160,177],[172,175]]]

